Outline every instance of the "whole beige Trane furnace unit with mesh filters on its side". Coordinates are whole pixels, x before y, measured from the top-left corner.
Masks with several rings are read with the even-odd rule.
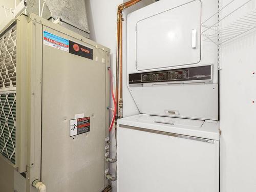
[[[1,29],[0,51],[0,156],[15,190],[104,189],[110,49],[31,14]]]

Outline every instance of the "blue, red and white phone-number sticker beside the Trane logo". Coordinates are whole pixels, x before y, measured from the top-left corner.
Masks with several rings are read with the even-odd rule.
[[[44,31],[44,45],[69,52],[69,40]]]

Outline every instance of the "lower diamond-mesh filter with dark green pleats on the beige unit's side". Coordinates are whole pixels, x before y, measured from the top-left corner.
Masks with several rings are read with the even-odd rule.
[[[15,164],[16,94],[0,94],[0,152]]]

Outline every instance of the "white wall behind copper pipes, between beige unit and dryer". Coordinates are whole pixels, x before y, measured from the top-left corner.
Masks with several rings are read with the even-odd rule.
[[[117,7],[122,4],[122,0],[85,0],[88,12],[89,29],[91,32],[91,39],[97,41],[111,49],[111,68],[115,78],[116,69],[116,25],[117,25]],[[132,8],[124,11],[123,22],[123,115],[130,116],[138,114],[136,104],[130,95],[126,86],[126,14],[148,4],[153,3],[153,0],[143,0]],[[115,80],[113,81],[115,83]],[[114,129],[113,129],[114,131]],[[114,157],[116,153],[114,132],[111,133],[111,156]],[[115,173],[116,164],[111,165],[110,172]],[[113,191],[116,191],[116,182],[113,183]]]

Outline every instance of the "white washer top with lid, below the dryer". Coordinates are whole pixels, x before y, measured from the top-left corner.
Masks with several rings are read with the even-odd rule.
[[[183,119],[140,114],[118,119],[117,123],[119,125],[141,127],[143,129],[200,137],[205,139],[220,139],[219,121]]]

